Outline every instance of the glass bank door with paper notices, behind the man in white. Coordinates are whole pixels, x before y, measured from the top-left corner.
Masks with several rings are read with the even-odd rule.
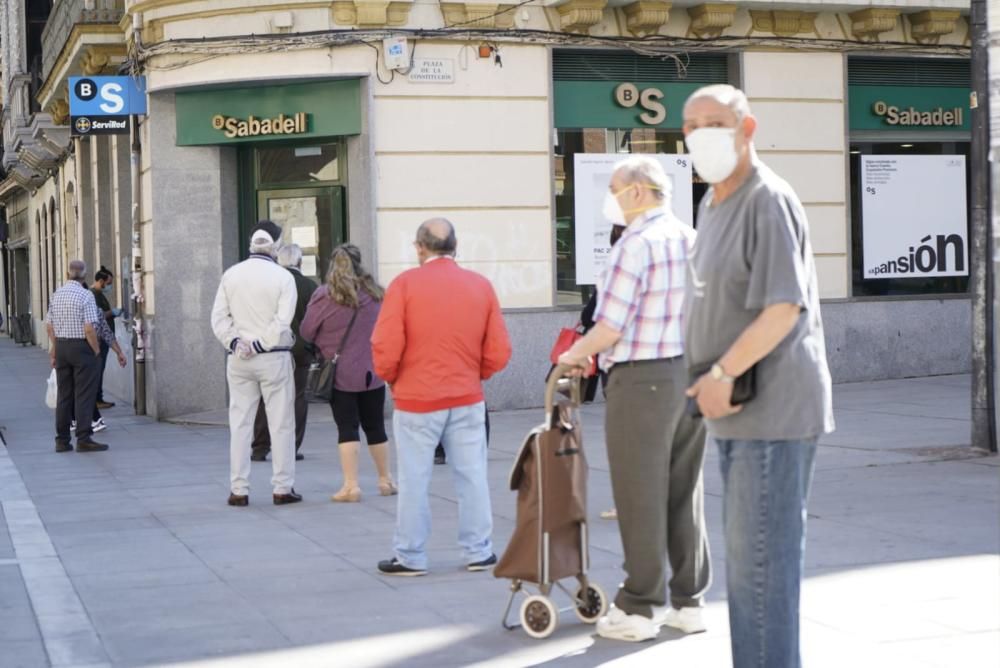
[[[282,240],[302,248],[302,274],[323,283],[330,253],[344,242],[342,186],[259,190],[257,218],[280,225]]]

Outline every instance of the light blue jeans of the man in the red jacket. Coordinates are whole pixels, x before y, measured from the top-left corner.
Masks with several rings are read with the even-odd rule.
[[[458,544],[466,563],[493,554],[493,511],[486,477],[486,422],[482,402],[433,413],[392,416],[399,462],[396,558],[407,568],[427,568],[431,533],[430,487],[434,448],[444,444],[458,496]]]

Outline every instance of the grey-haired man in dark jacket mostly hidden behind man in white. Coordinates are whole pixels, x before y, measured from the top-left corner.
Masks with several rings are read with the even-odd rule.
[[[312,364],[313,356],[308,344],[299,336],[299,325],[302,324],[309,298],[316,291],[317,285],[315,281],[302,275],[302,249],[297,244],[282,246],[278,251],[278,264],[291,272],[298,294],[295,317],[292,319],[292,333],[295,334],[292,357],[295,359],[295,459],[301,461],[304,457],[299,453],[299,448],[302,447],[302,439],[306,435],[306,417],[309,413],[309,402],[306,401],[306,377],[309,375],[309,365]],[[253,425],[253,454],[250,455],[250,459],[255,462],[265,461],[270,451],[271,435],[267,428],[264,402],[261,401]]]

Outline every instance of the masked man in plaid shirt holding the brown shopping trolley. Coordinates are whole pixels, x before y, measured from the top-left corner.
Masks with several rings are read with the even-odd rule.
[[[616,166],[605,215],[620,215],[628,227],[598,285],[596,325],[560,358],[583,366],[602,353],[609,371],[605,439],[626,578],[597,632],[634,642],[656,637],[664,624],[704,631],[711,579],[705,430],[685,412],[684,396],[684,289],[695,232],[671,213],[670,191],[652,158]]]

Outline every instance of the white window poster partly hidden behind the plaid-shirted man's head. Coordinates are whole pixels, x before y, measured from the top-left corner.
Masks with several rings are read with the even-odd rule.
[[[573,156],[573,222],[576,238],[576,284],[593,285],[604,271],[611,253],[611,222],[602,214],[616,164],[627,158],[621,153],[577,153]],[[694,224],[691,194],[691,159],[687,155],[650,155],[663,165],[673,182],[674,215]]]

